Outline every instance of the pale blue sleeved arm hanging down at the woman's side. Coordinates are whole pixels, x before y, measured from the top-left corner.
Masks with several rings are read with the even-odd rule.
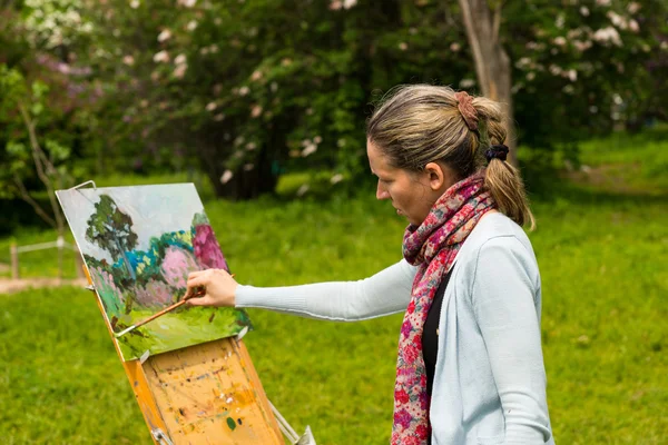
[[[480,249],[473,310],[487,345],[505,417],[505,444],[543,444],[550,436],[547,378],[533,255],[513,236]]]

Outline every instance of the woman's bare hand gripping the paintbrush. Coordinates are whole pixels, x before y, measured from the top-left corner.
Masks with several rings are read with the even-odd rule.
[[[194,271],[188,275],[188,290],[185,298],[197,294],[202,289],[204,295],[199,298],[188,298],[188,305],[234,307],[234,293],[237,286],[238,283],[234,280],[232,275],[223,269]]]

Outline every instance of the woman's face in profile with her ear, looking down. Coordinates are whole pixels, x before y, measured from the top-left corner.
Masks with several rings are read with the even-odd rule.
[[[390,199],[397,215],[419,226],[432,206],[453,185],[450,169],[430,162],[422,171],[392,167],[387,157],[372,142],[366,142],[371,171],[379,177],[377,199]]]

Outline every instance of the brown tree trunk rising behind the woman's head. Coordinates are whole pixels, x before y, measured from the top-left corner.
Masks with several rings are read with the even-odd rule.
[[[512,128],[512,72],[510,58],[499,41],[501,2],[499,1],[494,9],[490,8],[488,0],[459,0],[459,3],[473,53],[478,83],[483,96],[501,102],[504,108],[509,161],[517,167],[517,146]]]

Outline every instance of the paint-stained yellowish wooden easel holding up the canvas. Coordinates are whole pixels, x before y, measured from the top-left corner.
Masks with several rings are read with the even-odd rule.
[[[213,340],[122,366],[155,444],[285,444],[242,339]]]

